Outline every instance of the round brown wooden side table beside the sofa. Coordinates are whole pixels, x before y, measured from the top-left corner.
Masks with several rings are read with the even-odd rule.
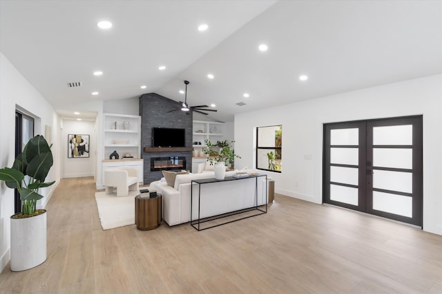
[[[157,229],[161,223],[161,195],[135,197],[135,224],[137,229],[148,231]]]

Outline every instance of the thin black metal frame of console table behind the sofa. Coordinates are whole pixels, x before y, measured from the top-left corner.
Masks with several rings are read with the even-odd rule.
[[[265,204],[260,204],[258,205],[258,178],[260,177],[264,177],[265,176]],[[201,212],[201,185],[204,184],[212,184],[214,182],[229,182],[231,180],[245,180],[248,178],[255,178],[255,205],[253,207],[248,207],[245,209],[238,209],[236,211],[229,211],[227,213],[221,213],[218,214],[216,216],[209,216],[206,218],[200,218],[200,212]],[[197,220],[192,220],[192,216],[193,216],[193,183],[198,184],[198,219]],[[268,198],[269,198],[269,194],[268,194],[268,182],[267,182],[267,174],[258,174],[256,176],[244,176],[244,177],[240,177],[240,178],[236,178],[236,177],[226,177],[224,178],[224,180],[215,180],[215,178],[210,178],[210,179],[202,179],[202,180],[192,180],[191,181],[191,226],[194,227],[197,231],[203,231],[206,229],[210,229],[213,227],[218,227],[221,226],[222,224],[229,224],[230,222],[236,222],[238,220],[244,220],[245,218],[251,218],[253,216],[260,216],[261,214],[267,213],[267,202],[268,202]],[[265,205],[265,210],[260,209],[261,206]],[[218,220],[220,218],[227,218],[229,216],[235,216],[236,214],[240,214],[240,213],[246,213],[249,211],[253,211],[253,210],[258,210],[261,213],[258,214],[254,214],[253,216],[244,216],[244,218],[238,218],[236,220],[230,220],[227,222],[222,222],[221,224],[214,224],[211,227],[205,227],[203,229],[200,228],[200,224],[202,224],[203,222],[211,222],[212,220]],[[198,225],[198,227],[197,227]]]

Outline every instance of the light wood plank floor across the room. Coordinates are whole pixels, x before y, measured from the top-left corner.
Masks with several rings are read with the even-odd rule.
[[[102,231],[92,178],[50,199],[48,260],[0,293],[442,293],[442,236],[276,195],[269,213],[206,231]]]

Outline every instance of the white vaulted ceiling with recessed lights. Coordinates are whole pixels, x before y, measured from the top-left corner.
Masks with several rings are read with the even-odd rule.
[[[113,28],[97,28],[103,19]],[[187,79],[189,105],[215,103],[209,117],[227,121],[440,74],[442,1],[0,0],[0,51],[59,112],[148,92],[182,101]]]

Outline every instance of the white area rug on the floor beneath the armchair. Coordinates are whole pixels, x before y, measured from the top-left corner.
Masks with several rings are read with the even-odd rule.
[[[99,220],[104,230],[135,224],[135,196],[117,197],[116,193],[95,193]]]

